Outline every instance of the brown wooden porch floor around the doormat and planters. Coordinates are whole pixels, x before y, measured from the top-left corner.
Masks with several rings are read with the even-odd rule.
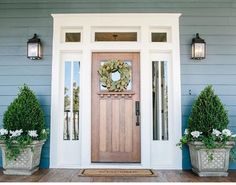
[[[158,170],[157,177],[79,177],[78,169],[41,169],[32,176],[3,175],[0,182],[236,182],[236,171],[228,177],[198,177],[191,171]]]

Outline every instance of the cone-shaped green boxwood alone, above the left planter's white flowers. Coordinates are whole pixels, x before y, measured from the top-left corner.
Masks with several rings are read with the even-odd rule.
[[[42,108],[27,85],[20,88],[18,97],[9,105],[3,117],[3,123],[3,127],[7,130],[22,129],[25,133],[29,130],[37,130],[40,134],[45,129]]]

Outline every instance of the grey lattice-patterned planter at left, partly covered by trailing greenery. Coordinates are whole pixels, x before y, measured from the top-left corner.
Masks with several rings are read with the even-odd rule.
[[[6,146],[0,143],[2,148],[2,159],[4,174],[8,175],[32,175],[39,169],[43,141],[34,141],[16,158],[16,160],[6,159]]]

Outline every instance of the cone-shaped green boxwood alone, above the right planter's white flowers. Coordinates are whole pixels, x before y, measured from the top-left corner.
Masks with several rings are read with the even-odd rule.
[[[228,123],[228,114],[223,103],[215,95],[212,85],[208,85],[193,104],[189,117],[189,132],[197,130],[208,137],[213,129],[226,129]]]

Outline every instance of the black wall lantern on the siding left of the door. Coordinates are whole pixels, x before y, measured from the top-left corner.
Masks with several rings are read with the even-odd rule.
[[[27,42],[27,58],[31,60],[42,59],[41,41],[37,34],[34,34],[34,37]]]

